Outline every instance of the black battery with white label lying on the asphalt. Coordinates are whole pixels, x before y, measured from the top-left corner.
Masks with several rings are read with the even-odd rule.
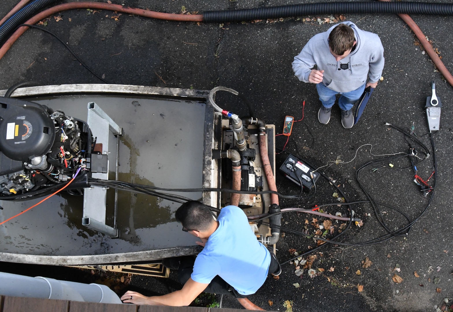
[[[289,154],[284,163],[280,166],[280,171],[284,173],[286,178],[300,186],[300,182],[309,191],[318,181],[319,173],[315,169],[309,167],[299,158]]]

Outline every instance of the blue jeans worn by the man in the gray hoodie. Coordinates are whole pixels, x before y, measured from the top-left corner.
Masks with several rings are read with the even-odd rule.
[[[365,90],[365,83],[357,88],[356,90],[349,92],[337,92],[329,89],[327,86],[324,86],[322,82],[316,84],[316,90],[318,91],[319,101],[323,103],[325,108],[331,108],[335,104],[335,99],[337,94],[341,94],[340,99],[338,100],[338,106],[342,110],[350,110],[354,103],[360,99],[360,96]]]

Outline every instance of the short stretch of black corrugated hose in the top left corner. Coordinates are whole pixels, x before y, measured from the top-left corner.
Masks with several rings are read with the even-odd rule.
[[[2,43],[20,24],[32,17],[36,12],[58,0],[35,0],[17,11],[0,26],[0,43]]]

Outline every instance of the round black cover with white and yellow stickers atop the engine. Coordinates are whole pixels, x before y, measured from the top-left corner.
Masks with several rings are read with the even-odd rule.
[[[44,106],[0,97],[0,150],[6,157],[28,162],[47,154],[55,140],[55,125]]]

